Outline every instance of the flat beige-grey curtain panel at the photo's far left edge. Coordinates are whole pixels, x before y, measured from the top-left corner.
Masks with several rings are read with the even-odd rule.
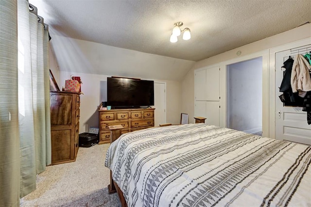
[[[0,3],[0,206],[19,205],[17,0]]]

